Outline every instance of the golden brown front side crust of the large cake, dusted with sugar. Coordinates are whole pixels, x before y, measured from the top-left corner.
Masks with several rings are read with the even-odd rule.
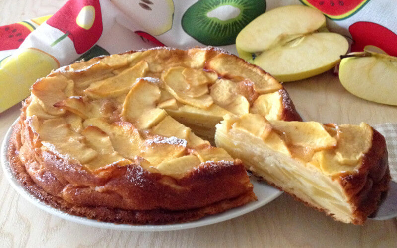
[[[196,220],[256,200],[239,160],[203,163],[178,179],[137,164],[87,172],[79,162],[35,146],[35,133],[25,122],[30,101],[25,100],[14,126],[8,157],[18,181],[52,207],[101,221],[164,224]]]

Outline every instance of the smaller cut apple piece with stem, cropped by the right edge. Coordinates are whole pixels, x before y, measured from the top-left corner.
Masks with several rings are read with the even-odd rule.
[[[340,62],[339,80],[353,95],[397,105],[397,57],[381,49],[366,46],[364,52],[346,55]]]

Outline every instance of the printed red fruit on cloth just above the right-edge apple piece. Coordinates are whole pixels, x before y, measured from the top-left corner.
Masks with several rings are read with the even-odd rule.
[[[377,23],[360,21],[349,27],[353,38],[352,52],[361,52],[367,45],[376,46],[391,56],[397,56],[397,35]]]

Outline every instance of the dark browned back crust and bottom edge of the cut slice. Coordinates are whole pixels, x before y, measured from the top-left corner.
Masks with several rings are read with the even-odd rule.
[[[353,209],[352,223],[355,225],[363,225],[367,217],[377,210],[382,194],[389,189],[391,179],[385,138],[374,128],[372,129],[372,146],[364,154],[360,168],[353,173],[339,174],[334,178],[345,190],[346,196],[350,198],[349,204]],[[325,209],[313,206],[292,192],[284,190],[282,186],[275,185],[253,171],[249,172],[261,178],[267,184],[291,195],[296,201],[303,202],[306,206],[325,212],[335,220],[340,221]]]

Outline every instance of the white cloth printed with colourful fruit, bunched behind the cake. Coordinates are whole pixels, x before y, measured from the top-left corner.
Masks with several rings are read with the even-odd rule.
[[[397,56],[395,0],[69,0],[52,17],[0,27],[0,112],[27,97],[36,79],[75,60],[164,45],[235,53],[245,25],[289,4],[318,8],[352,51],[375,45]]]

